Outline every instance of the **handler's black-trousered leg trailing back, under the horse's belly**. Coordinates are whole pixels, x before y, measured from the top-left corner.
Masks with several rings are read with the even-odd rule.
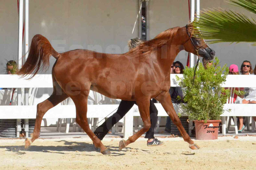
[[[94,131],[94,134],[102,140],[105,135],[107,135],[108,131],[116,124],[119,120],[121,120],[124,115],[133,107],[135,101],[121,101],[117,111],[111,115],[107,120],[101,124],[101,126],[97,127]]]

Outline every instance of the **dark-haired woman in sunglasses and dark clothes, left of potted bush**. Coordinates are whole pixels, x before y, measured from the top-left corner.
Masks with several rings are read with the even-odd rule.
[[[184,66],[181,64],[181,62],[176,61],[173,63],[173,72],[172,74],[183,74]],[[172,98],[172,103],[181,103],[183,98],[183,93],[181,90],[181,87],[170,87],[169,93]],[[177,99],[177,97],[180,96],[181,99]],[[171,119],[167,117],[166,120],[166,126],[165,131],[171,133]]]

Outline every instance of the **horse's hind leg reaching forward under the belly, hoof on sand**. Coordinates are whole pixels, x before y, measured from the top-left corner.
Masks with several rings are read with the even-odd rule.
[[[89,91],[89,90],[88,90]],[[88,94],[81,93],[79,95],[70,96],[75,103],[76,122],[83,128],[84,132],[92,139],[96,148],[99,148],[104,155],[111,154],[106,146],[101,143],[101,140],[92,132],[87,122],[87,99]]]

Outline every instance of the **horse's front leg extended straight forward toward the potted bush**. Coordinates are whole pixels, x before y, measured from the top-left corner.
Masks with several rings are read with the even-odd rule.
[[[164,92],[164,93],[158,95],[156,99],[161,103],[164,110],[169,115],[170,119],[172,119],[173,123],[177,126],[184,141],[188,142],[190,144],[189,147],[191,149],[199,149],[200,147],[196,143],[194,143],[193,140],[191,140],[190,136],[188,135],[188,133],[182,126],[181,120],[179,119],[178,115],[175,112],[175,109],[173,108],[172,100],[171,100],[171,96],[170,96],[169,92]]]

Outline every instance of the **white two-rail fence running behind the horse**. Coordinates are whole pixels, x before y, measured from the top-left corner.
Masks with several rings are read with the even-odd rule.
[[[182,77],[182,74],[177,74]],[[175,74],[171,74],[171,86],[178,86],[175,81]],[[18,75],[0,75],[1,88],[49,88],[53,87],[51,75],[36,75],[30,80],[20,78]],[[256,75],[228,75],[226,82],[222,87],[256,87]],[[19,97],[19,96],[18,96]],[[20,95],[21,97],[21,95]],[[167,116],[163,107],[157,103],[158,116]],[[179,105],[174,104],[176,112],[182,110]],[[88,118],[106,117],[110,112],[116,109],[118,105],[88,105]],[[133,116],[139,116],[134,106],[125,116],[124,137],[133,133]],[[256,116],[256,105],[248,104],[225,104],[225,109],[231,109],[231,112],[225,111],[221,116]],[[18,105],[18,106],[0,106],[0,119],[28,119],[36,118],[36,106]],[[113,114],[113,113],[112,113]],[[185,115],[185,113],[183,113]],[[110,115],[109,115],[110,116]],[[74,105],[57,105],[50,109],[44,118],[75,118]],[[226,124],[223,126],[226,127]],[[223,132],[225,133],[225,132]]]

